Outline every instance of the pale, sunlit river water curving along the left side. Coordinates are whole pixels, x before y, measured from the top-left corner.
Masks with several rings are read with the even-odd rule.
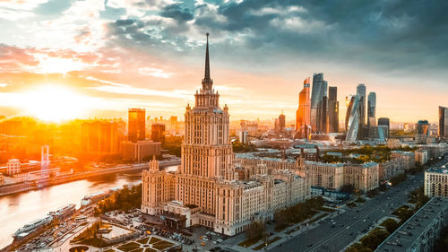
[[[167,169],[174,169],[168,167]],[[13,241],[11,235],[24,224],[43,218],[48,212],[65,204],[80,207],[83,196],[108,191],[113,187],[142,180],[141,171],[128,171],[101,177],[86,178],[61,185],[44,187],[0,197],[0,248]]]

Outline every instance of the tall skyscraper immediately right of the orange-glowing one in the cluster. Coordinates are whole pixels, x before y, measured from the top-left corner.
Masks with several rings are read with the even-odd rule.
[[[323,81],[323,73],[313,75],[313,90],[311,91],[311,128],[314,132],[322,131],[323,97],[327,97],[328,83]]]

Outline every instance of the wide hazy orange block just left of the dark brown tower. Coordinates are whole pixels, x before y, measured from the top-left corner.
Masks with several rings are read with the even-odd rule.
[[[116,128],[115,122],[94,121],[82,123],[82,152],[97,157],[118,152]]]

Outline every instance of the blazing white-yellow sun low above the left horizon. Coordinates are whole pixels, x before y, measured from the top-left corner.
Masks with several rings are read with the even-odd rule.
[[[87,97],[57,84],[41,85],[27,91],[21,102],[26,114],[53,122],[82,116],[88,106]]]

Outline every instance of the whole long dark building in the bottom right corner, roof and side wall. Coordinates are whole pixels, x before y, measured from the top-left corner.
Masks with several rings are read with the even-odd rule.
[[[448,198],[433,197],[381,243],[376,252],[430,252],[448,224]]]

